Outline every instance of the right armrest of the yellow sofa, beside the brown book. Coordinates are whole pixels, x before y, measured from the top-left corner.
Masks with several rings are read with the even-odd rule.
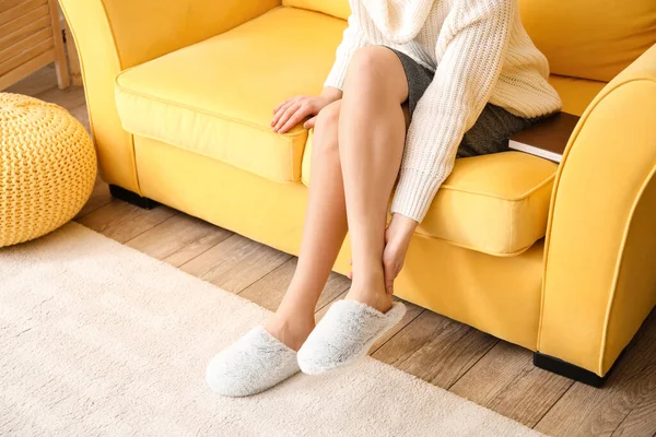
[[[559,167],[538,352],[598,376],[656,304],[656,45],[581,118]]]

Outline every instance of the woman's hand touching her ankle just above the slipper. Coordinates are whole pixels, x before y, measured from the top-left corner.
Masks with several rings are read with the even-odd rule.
[[[399,275],[406,261],[410,238],[417,223],[405,215],[394,214],[389,226],[385,229],[385,250],[383,250],[383,268],[385,272],[385,290],[394,294],[394,280]]]

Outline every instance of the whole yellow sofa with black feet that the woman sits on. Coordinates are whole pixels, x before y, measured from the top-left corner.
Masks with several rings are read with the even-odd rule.
[[[396,291],[600,385],[656,303],[656,2],[519,3],[581,122],[560,166],[458,160]],[[112,192],[297,253],[312,132],[268,123],[283,98],[320,92],[347,0],[61,5]]]

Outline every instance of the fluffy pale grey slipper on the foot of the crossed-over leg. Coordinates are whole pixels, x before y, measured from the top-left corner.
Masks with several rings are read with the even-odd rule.
[[[400,302],[385,314],[356,300],[335,303],[298,350],[301,370],[318,375],[358,361],[405,314]]]

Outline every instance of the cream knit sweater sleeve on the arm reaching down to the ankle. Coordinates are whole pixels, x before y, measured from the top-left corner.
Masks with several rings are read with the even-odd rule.
[[[391,203],[393,213],[417,222],[453,170],[462,135],[490,99],[516,13],[515,0],[464,3],[447,17],[437,39],[437,69],[412,114]]]

